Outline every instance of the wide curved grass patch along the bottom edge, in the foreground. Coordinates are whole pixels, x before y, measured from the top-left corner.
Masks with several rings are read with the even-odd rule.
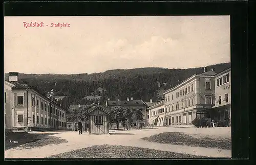
[[[127,146],[92,146],[46,158],[202,158],[203,156]]]

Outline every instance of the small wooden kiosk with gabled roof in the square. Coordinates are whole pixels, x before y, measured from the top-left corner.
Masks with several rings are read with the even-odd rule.
[[[93,107],[88,111],[89,134],[109,134],[110,112],[100,106]]]

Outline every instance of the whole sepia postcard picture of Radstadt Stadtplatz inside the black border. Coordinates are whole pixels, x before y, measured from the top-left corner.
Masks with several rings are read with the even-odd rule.
[[[230,16],[5,16],[5,158],[231,158]]]

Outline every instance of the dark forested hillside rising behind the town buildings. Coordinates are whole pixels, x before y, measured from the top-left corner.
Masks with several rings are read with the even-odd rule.
[[[215,72],[230,67],[230,63],[222,63],[207,66],[207,69],[215,68]],[[159,100],[157,97],[158,89],[168,89],[188,77],[202,73],[203,68],[189,69],[167,69],[159,67],[146,67],[135,69],[114,69],[107,70],[104,73],[94,74],[77,74],[77,75],[36,75],[36,74],[19,74],[20,81],[27,81],[32,87],[37,88],[41,93],[46,95],[47,91],[52,88],[56,96],[67,96],[62,100],[62,105],[68,107],[73,104],[103,104],[106,98],[110,99],[150,99]],[[8,78],[8,74],[5,74]],[[106,90],[98,91],[103,88]],[[101,96],[97,100],[87,100],[86,96]]]

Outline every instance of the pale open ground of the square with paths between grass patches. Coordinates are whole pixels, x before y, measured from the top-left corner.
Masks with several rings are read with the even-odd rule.
[[[5,158],[44,158],[63,152],[76,149],[91,147],[94,145],[121,145],[156,149],[162,151],[171,151],[177,153],[193,154],[207,157],[231,157],[231,150],[211,149],[202,147],[190,147],[170,144],[152,143],[142,140],[142,137],[148,137],[162,132],[184,132],[195,137],[211,138],[231,138],[231,127],[215,128],[173,128],[159,127],[154,129],[115,131],[110,135],[89,135],[78,132],[58,132],[56,137],[68,140],[68,143],[58,145],[47,145],[40,148],[23,149],[22,147],[12,148],[5,151]],[[37,132],[39,133],[39,132]],[[49,132],[40,132],[49,133]]]

